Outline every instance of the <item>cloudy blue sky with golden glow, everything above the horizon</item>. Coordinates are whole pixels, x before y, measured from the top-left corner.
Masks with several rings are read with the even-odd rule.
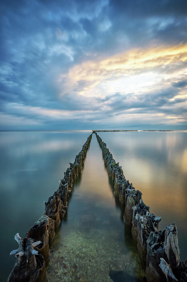
[[[187,1],[1,1],[0,129],[187,130]]]

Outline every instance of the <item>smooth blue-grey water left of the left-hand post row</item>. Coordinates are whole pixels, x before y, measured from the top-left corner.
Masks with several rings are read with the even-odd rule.
[[[44,212],[90,131],[0,131],[1,281],[15,263],[14,235],[26,232]]]

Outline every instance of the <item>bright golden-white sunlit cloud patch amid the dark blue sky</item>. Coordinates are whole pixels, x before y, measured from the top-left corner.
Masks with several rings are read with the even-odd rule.
[[[168,87],[187,75],[187,44],[130,50],[105,60],[84,61],[62,74],[63,95],[104,96],[108,93],[145,93]]]

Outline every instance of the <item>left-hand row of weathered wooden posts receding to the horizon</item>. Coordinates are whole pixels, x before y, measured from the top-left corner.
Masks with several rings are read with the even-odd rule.
[[[24,238],[21,238],[18,233],[15,235],[18,249],[10,253],[15,255],[16,262],[8,281],[42,282],[46,280],[49,243],[52,242],[55,229],[66,212],[68,195],[71,193],[73,181],[82,171],[91,137],[92,134],[82,146],[81,152],[76,155],[75,162],[70,163],[70,167],[64,173],[64,178],[59,180],[58,190],[49,197],[47,202],[44,202],[44,215],[35,222]]]

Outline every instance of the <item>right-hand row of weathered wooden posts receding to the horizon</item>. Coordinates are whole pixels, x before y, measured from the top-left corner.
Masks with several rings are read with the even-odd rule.
[[[94,131],[94,133],[96,133]],[[180,261],[178,235],[175,223],[159,229],[161,217],[151,214],[150,207],[125,179],[122,167],[113,159],[106,143],[97,135],[104,163],[114,180],[114,193],[125,205],[124,222],[131,226],[140,255],[146,265],[146,277],[150,281],[187,281],[187,260]]]

